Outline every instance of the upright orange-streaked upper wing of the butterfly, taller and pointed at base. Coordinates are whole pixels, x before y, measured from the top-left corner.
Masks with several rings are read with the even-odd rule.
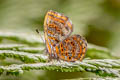
[[[44,36],[48,53],[53,47],[68,37],[73,31],[72,22],[67,16],[55,11],[48,11],[44,20]]]

